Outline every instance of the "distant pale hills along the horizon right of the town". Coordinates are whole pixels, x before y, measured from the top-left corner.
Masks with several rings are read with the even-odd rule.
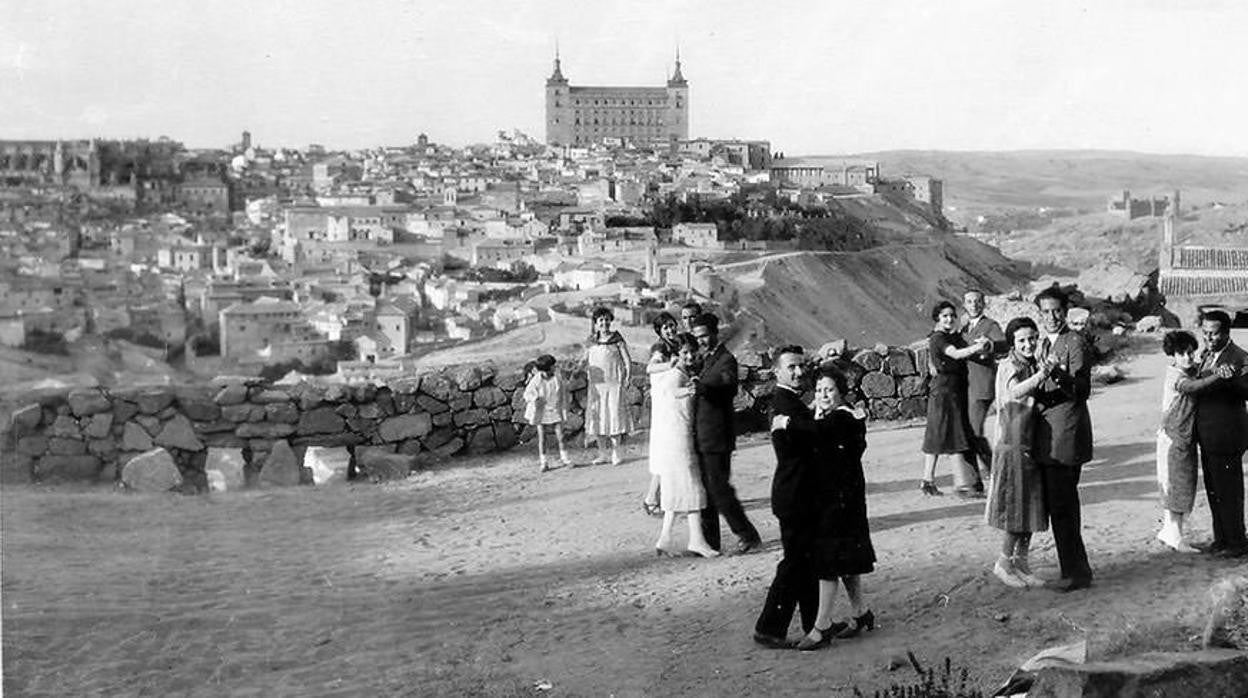
[[[1123,189],[1137,196],[1182,190],[1184,202],[1248,201],[1248,157],[1157,155],[1109,150],[890,150],[806,160],[869,159],[885,175],[925,174],[945,181],[951,220],[965,209],[1104,209]]]

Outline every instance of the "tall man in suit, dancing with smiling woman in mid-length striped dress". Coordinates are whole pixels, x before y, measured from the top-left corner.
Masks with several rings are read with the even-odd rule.
[[[1080,511],[1080,474],[1092,460],[1092,356],[1078,332],[1066,326],[1066,295],[1056,287],[1036,296],[1040,308],[1037,358],[1050,370],[1036,391],[1035,447],[1032,458],[1041,467],[1045,507],[1053,529],[1053,546],[1062,578],[1058,591],[1092,586],[1092,567],[1083,547]]]

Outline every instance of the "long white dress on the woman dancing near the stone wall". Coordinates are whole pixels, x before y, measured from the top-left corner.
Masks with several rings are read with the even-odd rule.
[[[665,512],[695,512],[706,492],[694,455],[694,393],[689,376],[673,368],[650,376],[650,472],[659,476]]]

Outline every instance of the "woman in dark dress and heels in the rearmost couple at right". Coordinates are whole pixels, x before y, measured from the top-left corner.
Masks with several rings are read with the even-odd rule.
[[[941,494],[936,488],[936,461],[941,455],[961,456],[971,450],[973,433],[966,415],[966,360],[992,347],[980,337],[973,345],[957,332],[957,308],[941,301],[932,308],[936,325],[927,338],[931,390],[927,395],[927,431],[924,433],[924,494]]]

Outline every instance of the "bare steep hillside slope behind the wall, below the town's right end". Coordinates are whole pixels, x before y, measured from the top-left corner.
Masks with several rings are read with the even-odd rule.
[[[931,330],[938,298],[967,288],[1002,293],[1027,283],[1011,260],[963,237],[865,252],[800,252],[724,270],[741,290],[739,341],[819,347],[909,343]],[[753,335],[753,340],[751,336]]]

